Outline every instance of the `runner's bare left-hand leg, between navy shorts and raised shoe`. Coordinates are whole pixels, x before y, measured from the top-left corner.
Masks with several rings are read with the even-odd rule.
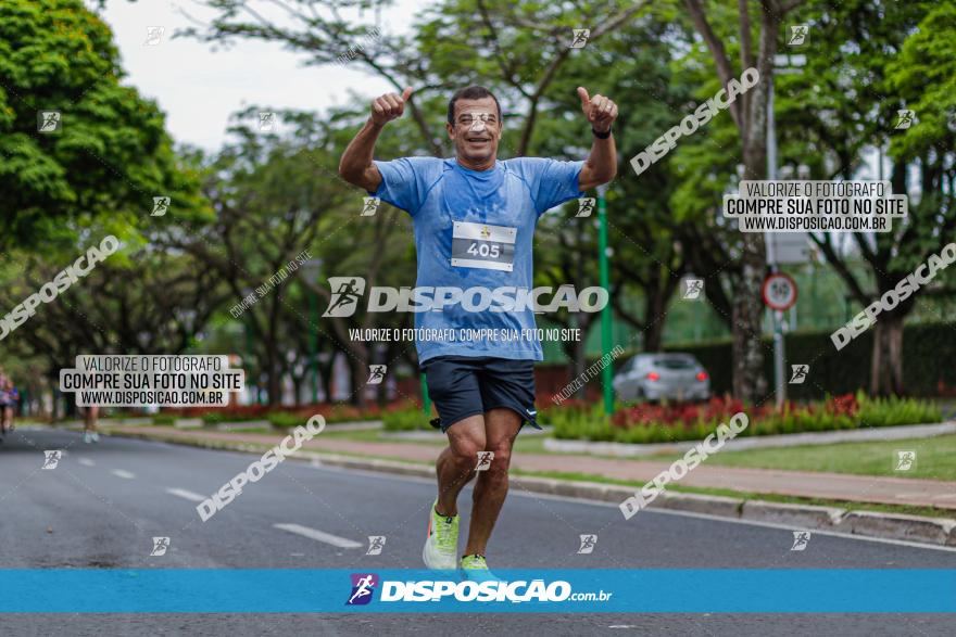
[[[458,514],[458,494],[475,476],[478,451],[485,448],[485,417],[469,416],[448,429],[449,446],[438,456],[438,512]]]

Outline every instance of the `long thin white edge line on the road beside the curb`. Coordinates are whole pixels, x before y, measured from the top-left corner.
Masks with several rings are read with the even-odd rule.
[[[398,480],[398,481],[402,481],[402,482],[417,482],[418,484],[429,484],[429,485],[435,484],[433,477],[426,479],[426,477],[418,477],[417,475],[401,475],[398,473],[385,473],[382,471],[367,471],[367,470],[363,470],[363,469],[345,469],[342,467],[329,467],[329,466],[325,466],[322,468],[314,467],[313,469],[315,471],[330,471],[330,472],[335,472],[335,473],[357,473],[360,475],[365,475],[367,477],[378,477],[378,479],[388,480],[388,481]],[[516,475],[515,477],[520,480],[521,477],[525,477],[525,476]],[[600,484],[600,483],[595,483],[595,484]],[[584,499],[580,499],[580,498],[573,498],[570,496],[557,496],[557,495],[553,495],[553,494],[537,494],[533,492],[526,493],[526,492],[520,492],[517,489],[512,489],[511,492],[508,492],[508,496],[512,496],[512,495],[518,496],[518,497],[526,497],[526,498],[541,498],[541,499],[545,499],[545,500],[558,500],[562,502],[573,502],[576,505],[590,505],[592,507],[601,507],[601,508],[605,508],[605,509],[618,509],[619,510],[619,507],[617,505],[615,505],[614,502],[584,500]],[[721,518],[720,515],[708,515],[707,513],[695,513],[693,511],[671,511],[671,510],[667,510],[667,509],[652,508],[652,509],[642,509],[641,513],[642,514],[643,513],[657,513],[661,515],[683,515],[684,518],[699,518],[701,520],[713,520],[714,522],[726,522],[728,524],[746,524],[750,526],[763,526],[765,528],[782,528],[785,531],[794,531],[796,528],[795,526],[790,526],[787,524],[775,524],[772,522],[758,522],[756,520],[738,520],[734,518]],[[627,522],[627,520],[625,520],[622,515],[621,515],[621,522]],[[868,537],[866,535],[851,535],[848,533],[840,533],[836,531],[821,531],[819,528],[807,528],[806,531],[810,531],[812,533],[814,533],[816,535],[830,535],[833,537],[840,537],[842,539],[858,539],[861,542],[876,542],[879,544],[892,544],[892,545],[896,545],[896,546],[908,546],[911,548],[923,548],[927,550],[934,550],[934,551],[956,552],[956,547],[935,546],[932,544],[922,544],[919,542],[907,542],[905,539],[892,539],[889,537]]]

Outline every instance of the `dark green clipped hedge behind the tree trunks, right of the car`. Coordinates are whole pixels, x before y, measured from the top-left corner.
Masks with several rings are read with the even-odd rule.
[[[869,388],[872,329],[839,352],[833,347],[830,334],[831,332],[787,334],[787,373],[790,373],[791,365],[810,365],[805,383],[788,385],[788,397],[796,400],[819,399],[826,394],[847,394]],[[710,374],[710,390],[715,395],[731,392],[733,356],[730,340],[705,344],[674,344],[666,349],[688,352],[696,356]],[[765,339],[764,373],[768,383],[773,380],[772,352],[772,341]],[[956,327],[952,323],[906,326],[903,333],[903,380],[907,393],[913,396],[939,396],[941,382],[949,390],[956,387],[956,366],[949,364],[954,352]]]

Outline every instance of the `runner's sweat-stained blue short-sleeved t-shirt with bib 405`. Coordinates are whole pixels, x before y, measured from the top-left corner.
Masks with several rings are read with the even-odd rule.
[[[438,157],[376,161],[375,165],[381,184],[370,194],[412,216],[418,254],[416,288],[478,288],[488,293],[501,288],[530,290],[538,217],[583,195],[578,183],[583,162],[518,157],[498,161],[490,170],[469,170],[455,158]],[[488,300],[483,301],[487,305]],[[416,339],[419,362],[435,356],[543,358],[541,343],[533,335],[530,304],[513,311],[471,311],[482,307],[481,303],[481,296],[474,295],[470,301],[445,304],[441,311],[416,313],[416,335],[495,330],[498,336]],[[501,307],[498,301],[492,305]],[[512,340],[515,334],[521,337]]]

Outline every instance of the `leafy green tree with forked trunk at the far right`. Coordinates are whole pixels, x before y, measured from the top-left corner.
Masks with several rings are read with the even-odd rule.
[[[892,232],[812,235],[851,297],[866,307],[939,254],[956,227],[956,126],[949,120],[956,113],[954,10],[934,2],[871,1],[808,9],[818,44],[805,72],[780,82],[781,156],[807,161],[813,174],[828,179],[848,180],[860,171],[877,178],[866,155],[879,149],[882,161],[889,146],[893,192],[918,193]],[[917,113],[909,129],[895,129],[901,109]],[[920,288],[880,314],[872,328],[871,393],[905,392],[904,320],[927,292]]]

